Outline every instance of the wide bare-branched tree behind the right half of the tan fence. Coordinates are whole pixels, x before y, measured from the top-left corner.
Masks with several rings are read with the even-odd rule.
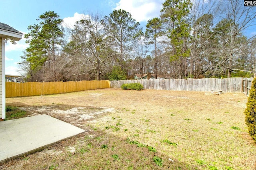
[[[94,74],[97,80],[101,79],[101,74],[106,72],[117,54],[110,48],[113,39],[107,36],[102,20],[99,13],[84,15],[74,25],[75,28],[71,31],[72,41],[69,43],[75,54],[71,60],[76,63],[76,69],[80,70],[78,75]]]

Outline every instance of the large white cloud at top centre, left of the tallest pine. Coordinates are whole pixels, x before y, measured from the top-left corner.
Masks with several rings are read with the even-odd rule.
[[[164,0],[120,0],[115,10],[130,12],[132,18],[138,22],[148,21],[160,16]]]

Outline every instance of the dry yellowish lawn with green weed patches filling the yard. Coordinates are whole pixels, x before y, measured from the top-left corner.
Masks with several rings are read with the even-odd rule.
[[[0,169],[256,169],[256,145],[244,121],[247,99],[244,94],[120,89],[7,98],[6,105],[26,115],[41,114],[47,106],[46,114],[86,133]],[[112,111],[84,120],[56,113],[72,107],[90,114],[99,108]]]

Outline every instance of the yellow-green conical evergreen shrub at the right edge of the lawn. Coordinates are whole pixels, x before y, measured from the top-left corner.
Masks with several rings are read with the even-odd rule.
[[[252,139],[256,142],[256,78],[252,80],[250,96],[248,98],[244,114],[248,131]]]

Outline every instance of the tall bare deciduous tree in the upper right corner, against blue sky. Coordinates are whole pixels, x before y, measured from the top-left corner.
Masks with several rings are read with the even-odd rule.
[[[256,9],[254,7],[244,7],[244,4],[240,0],[221,0],[220,8],[221,17],[227,21],[228,45],[222,45],[223,51],[223,66],[228,69],[228,77],[231,76],[232,70],[236,69],[235,64],[238,61],[239,56],[244,55],[242,49],[244,49],[250,39],[243,41],[244,31],[249,27],[256,24]]]

